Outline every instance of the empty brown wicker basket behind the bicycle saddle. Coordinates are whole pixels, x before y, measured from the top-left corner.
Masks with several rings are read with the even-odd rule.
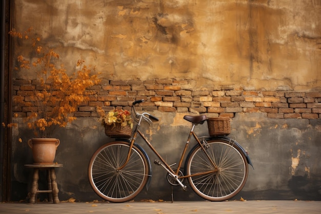
[[[231,133],[230,118],[208,118],[207,126],[211,137],[224,136]]]

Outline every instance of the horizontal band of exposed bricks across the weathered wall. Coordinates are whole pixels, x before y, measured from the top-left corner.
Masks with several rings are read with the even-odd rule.
[[[25,96],[30,101],[36,81],[13,81],[14,96]],[[265,112],[276,119],[321,119],[321,92],[251,91],[233,86],[213,86],[195,90],[194,80],[103,81],[92,87],[97,92],[90,101],[79,106],[75,116],[97,116],[96,106],[106,111],[114,107],[124,109],[134,100],[144,111],[214,113],[233,118],[237,112]],[[32,106],[14,106],[13,111],[24,117]]]

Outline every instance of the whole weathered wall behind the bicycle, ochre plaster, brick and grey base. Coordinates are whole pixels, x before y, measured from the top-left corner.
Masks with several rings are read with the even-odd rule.
[[[143,85],[156,79],[193,80],[195,85],[183,88],[190,92],[185,100],[190,106],[167,108],[177,102],[177,94],[168,95],[165,90],[154,98],[159,88],[137,85],[118,90],[117,85],[111,86],[116,92],[107,97],[112,100],[102,100],[105,107],[127,107],[136,95],[147,96],[149,110],[161,119],[146,127],[147,135],[169,162],[177,162],[176,149],[187,138],[189,124],[182,120],[184,114],[227,113],[233,118],[231,135],[246,148],[255,167],[250,168],[237,199],[321,200],[320,1],[19,0],[14,1],[14,14],[14,27],[23,31],[33,26],[44,44],[61,54],[67,68],[82,56],[107,81],[142,81]],[[27,54],[30,50],[19,43],[14,51]],[[16,79],[34,76],[27,71],[14,73]],[[104,90],[108,91],[110,83],[102,86]],[[226,94],[225,89],[234,94]],[[306,100],[305,94],[311,91],[316,95]],[[292,103],[286,92],[295,94]],[[262,98],[276,93],[283,94],[277,104]],[[251,98],[242,100],[243,95]],[[245,103],[248,106],[242,106]],[[55,134],[62,141],[56,157],[64,164],[57,170],[61,200],[100,200],[89,185],[87,166],[95,149],[111,139],[97,118],[91,117],[91,107],[84,106],[75,123]],[[227,112],[228,108],[232,110]],[[24,128],[23,118],[14,120],[19,129],[13,130],[11,195],[12,200],[21,200],[27,196],[31,179],[23,164],[32,159],[28,146],[16,142],[19,137],[26,142],[32,135]],[[206,124],[197,128],[207,134]],[[151,187],[136,200],[170,200],[165,176],[162,168],[153,166]],[[174,198],[199,200],[190,188],[187,193],[174,188]]]

